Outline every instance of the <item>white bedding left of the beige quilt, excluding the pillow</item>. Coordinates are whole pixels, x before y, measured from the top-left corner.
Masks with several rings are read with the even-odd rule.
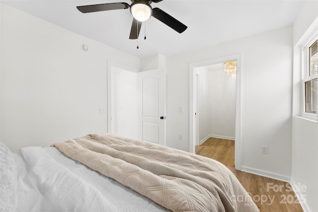
[[[167,209],[70,159],[56,147],[13,154],[20,212],[162,212]]]

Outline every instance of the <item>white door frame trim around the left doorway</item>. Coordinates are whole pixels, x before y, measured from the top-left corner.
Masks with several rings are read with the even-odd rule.
[[[139,70],[124,64],[107,60],[107,133],[111,134],[111,68],[115,67],[125,71],[138,73]]]

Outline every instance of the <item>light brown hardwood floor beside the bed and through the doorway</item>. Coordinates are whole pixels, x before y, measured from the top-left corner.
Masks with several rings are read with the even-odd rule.
[[[220,161],[239,179],[260,212],[303,212],[289,183],[249,174],[235,169],[232,140],[209,138],[195,153]]]

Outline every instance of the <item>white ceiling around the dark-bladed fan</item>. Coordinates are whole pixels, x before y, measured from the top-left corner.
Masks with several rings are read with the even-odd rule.
[[[154,54],[171,56],[181,52],[290,26],[304,0],[163,0],[152,3],[184,23],[181,34],[158,19],[146,21],[137,40],[130,40],[132,15],[129,9],[81,13],[79,5],[127,2],[130,0],[1,0],[1,2],[144,58]]]

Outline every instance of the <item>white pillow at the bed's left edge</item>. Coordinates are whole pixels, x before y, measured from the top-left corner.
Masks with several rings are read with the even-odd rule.
[[[0,212],[16,209],[16,167],[10,149],[0,142]]]

